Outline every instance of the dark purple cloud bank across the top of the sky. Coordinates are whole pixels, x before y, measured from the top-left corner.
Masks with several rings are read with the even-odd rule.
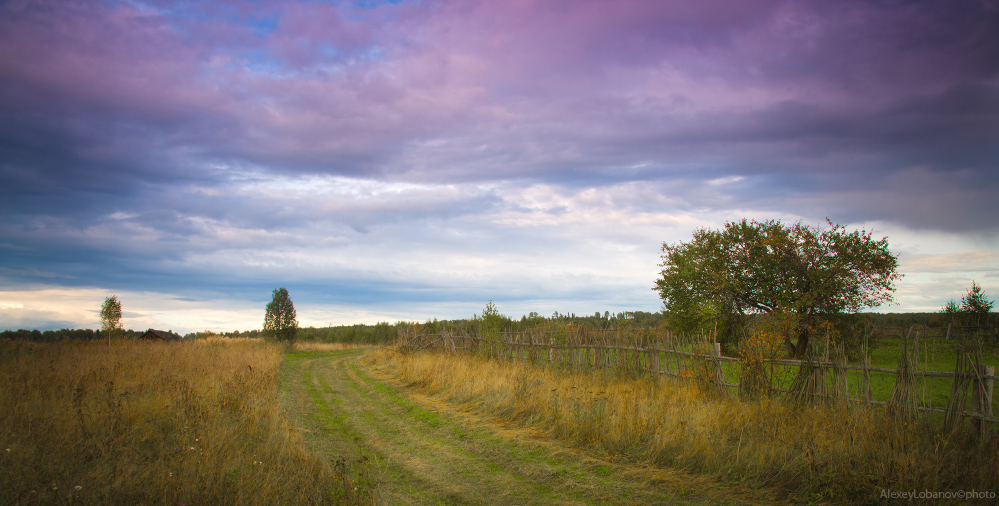
[[[758,147],[776,166],[846,148],[945,170],[962,144],[978,148],[962,149],[966,159],[982,151],[996,123],[994,108],[966,111],[995,102],[988,3],[497,2],[404,5],[391,17],[294,4],[259,7],[275,20],[263,36],[239,4],[83,5],[8,5],[5,47],[19,50],[4,58],[15,131],[3,141],[17,166],[84,185],[171,182],[212,162],[572,179],[698,162],[722,144],[727,166]],[[686,97],[711,81],[720,87]],[[678,97],[689,106],[671,106]],[[941,136],[945,125],[956,130]],[[977,139],[966,135],[976,126]],[[906,156],[917,140],[933,156]]]

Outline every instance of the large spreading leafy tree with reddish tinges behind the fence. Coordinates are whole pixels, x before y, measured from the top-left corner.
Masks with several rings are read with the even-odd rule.
[[[898,257],[887,238],[779,220],[729,222],[698,229],[690,242],[663,243],[659,292],[670,324],[680,331],[712,325],[719,340],[735,340],[746,315],[796,319],[788,350],[802,355],[809,338],[832,316],[893,300]]]

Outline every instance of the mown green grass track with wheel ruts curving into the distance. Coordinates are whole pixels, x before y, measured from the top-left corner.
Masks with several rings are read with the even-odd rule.
[[[516,430],[391,384],[363,355],[287,354],[281,384],[306,441],[366,469],[377,503],[717,504],[724,495],[717,485],[695,490],[662,478],[669,471],[606,462],[525,431],[511,437]]]

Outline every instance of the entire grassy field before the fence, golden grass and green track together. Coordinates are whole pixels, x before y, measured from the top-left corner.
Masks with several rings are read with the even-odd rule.
[[[0,342],[0,406],[2,504],[878,504],[883,490],[999,489],[996,438],[930,419],[389,348]]]

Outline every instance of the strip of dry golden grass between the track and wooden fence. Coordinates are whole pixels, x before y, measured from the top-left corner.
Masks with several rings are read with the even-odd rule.
[[[400,380],[600,453],[772,486],[806,501],[882,489],[999,492],[999,445],[881,410],[702,395],[694,384],[475,356],[380,352]]]

